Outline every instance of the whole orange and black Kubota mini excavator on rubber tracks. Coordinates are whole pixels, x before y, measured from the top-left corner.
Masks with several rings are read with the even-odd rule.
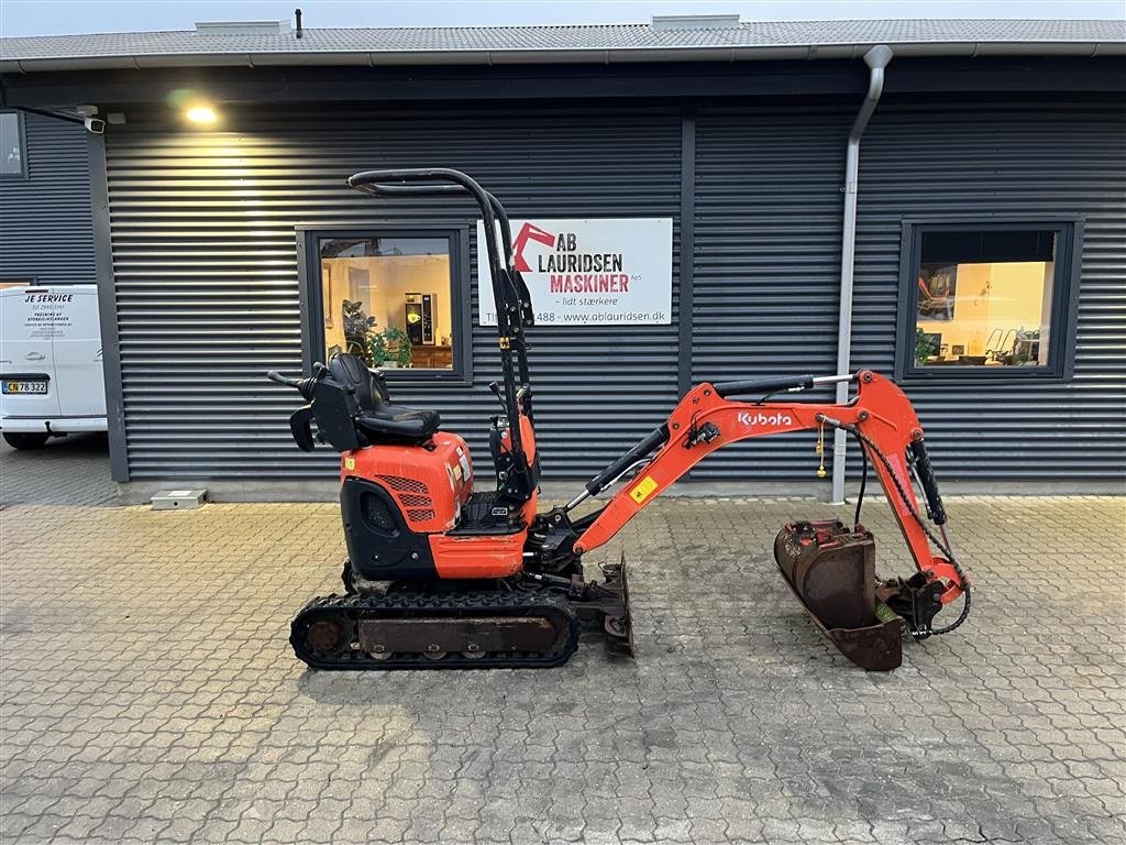
[[[436,411],[393,404],[383,374],[356,356],[333,355],[302,379],[268,373],[305,400],[289,419],[297,446],[312,451],[323,443],[341,455],[343,594],[314,598],[293,620],[291,643],[309,666],[558,666],[574,653],[584,623],[605,634],[611,652],[633,656],[624,557],[601,566],[601,580],[587,579],[583,558],[705,455],[787,432],[816,430],[823,443],[826,428],[856,438],[864,479],[870,465],[917,571],[909,578],[876,577],[875,542],[859,523],[863,486],[854,525],[787,524],[775,540],[775,559],[816,626],[857,666],[887,670],[901,664],[905,635],[924,639],[965,621],[969,580],[946,533],[922,427],[904,393],[872,371],[697,384],[662,425],[571,501],[540,512],[526,338],[534,312],[503,206],[457,170],[369,170],[348,184],[381,197],[467,195],[476,202],[488,254],[480,260],[488,260],[491,272],[503,377],[489,386],[503,413],[492,418],[489,430],[495,484],[475,490],[465,441],[441,430]],[[844,403],[770,401],[841,381],[855,384]],[[577,514],[619,482],[604,506]],[[958,598],[957,617],[936,626],[936,616]]]

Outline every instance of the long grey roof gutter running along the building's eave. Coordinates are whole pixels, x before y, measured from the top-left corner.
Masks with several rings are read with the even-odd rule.
[[[305,39],[307,41],[307,38]],[[45,56],[0,60],[3,73],[68,70],[143,70],[150,68],[384,66],[426,64],[618,64],[632,62],[742,62],[804,59],[859,59],[873,44],[808,44],[748,47],[635,47],[625,50],[471,50],[338,51],[267,53],[134,53],[123,55]],[[885,46],[885,45],[878,45]],[[1121,42],[911,42],[886,45],[895,55],[1015,56],[1126,55]]]

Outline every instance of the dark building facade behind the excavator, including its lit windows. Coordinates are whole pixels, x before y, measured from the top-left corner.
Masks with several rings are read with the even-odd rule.
[[[944,480],[1118,483],[1123,61],[1051,43],[977,56],[909,46],[892,44],[861,141],[852,366],[895,375]],[[222,68],[206,55],[187,70],[3,65],[10,106],[114,116],[82,139],[93,212],[64,258],[102,286],[118,481],[331,478],[337,455],[294,448],[293,395],[263,374],[296,373],[357,337],[372,363],[390,362],[396,402],[439,410],[488,454],[499,365],[495,330],[481,324],[477,215],[448,198],[361,195],[345,179],[364,169],[464,170],[539,229],[669,221],[669,242],[652,247],[668,250],[667,317],[542,320],[530,335],[548,480],[592,475],[694,383],[835,372],[846,141],[869,82],[858,57],[426,56],[413,68],[323,56]],[[185,108],[204,97],[215,123],[189,125]],[[6,204],[23,202],[3,188]],[[8,237],[6,274],[24,260]],[[813,481],[813,444],[742,444],[692,479]]]

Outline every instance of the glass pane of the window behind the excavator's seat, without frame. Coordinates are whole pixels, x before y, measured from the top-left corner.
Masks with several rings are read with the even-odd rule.
[[[319,239],[324,354],[368,366],[454,368],[448,237]]]

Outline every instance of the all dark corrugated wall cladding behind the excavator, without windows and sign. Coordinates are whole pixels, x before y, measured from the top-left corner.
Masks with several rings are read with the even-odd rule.
[[[697,109],[694,381],[833,370],[852,116],[848,106]],[[888,100],[877,109],[861,152],[856,366],[893,370],[904,217],[1085,215],[1072,382],[909,385],[942,478],[1119,477],[1124,150],[1123,117],[1109,108]],[[107,135],[107,164],[132,478],[331,472],[333,454],[293,447],[294,399],[262,380],[301,361],[294,228],[470,222],[468,206],[387,204],[342,186],[363,168],[425,163],[473,174],[515,216],[673,217],[676,305],[677,109],[350,109],[205,134],[131,115]],[[593,473],[664,417],[677,400],[676,320],[536,331],[548,478]],[[437,408],[483,450],[493,343],[474,327],[472,389],[401,388],[396,399]],[[724,450],[694,478],[812,481],[813,444],[802,434]]]

